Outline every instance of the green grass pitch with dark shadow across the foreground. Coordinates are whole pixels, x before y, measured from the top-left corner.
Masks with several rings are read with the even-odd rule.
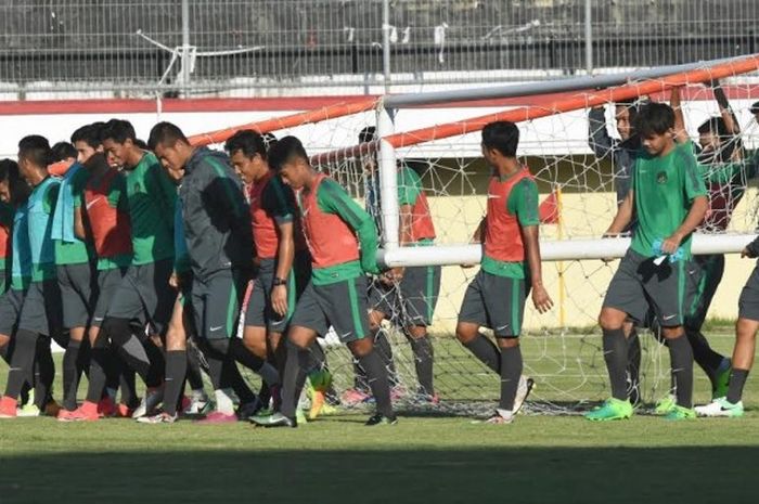
[[[709,336],[722,351],[732,346],[729,332]],[[526,341],[531,367],[546,372],[539,397],[558,399],[566,393],[557,390],[577,385],[552,375],[556,364],[544,352],[563,351],[567,374],[577,374],[578,354],[593,359],[579,341]],[[447,348],[442,344],[441,357],[463,359]],[[448,372],[472,365],[462,362],[447,362]],[[490,397],[497,379],[484,374],[480,380],[489,387],[481,395]],[[581,385],[573,395],[601,399],[600,387]],[[699,401],[706,387],[696,382]],[[750,502],[759,456],[756,389],[749,377],[742,419],[681,423],[638,415],[599,425],[524,415],[510,426],[486,426],[410,414],[394,427],[366,428],[365,414],[345,414],[267,430],[243,423],[18,418],[0,423],[0,503]]]

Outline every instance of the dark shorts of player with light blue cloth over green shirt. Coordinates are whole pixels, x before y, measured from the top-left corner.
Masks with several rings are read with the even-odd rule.
[[[57,282],[63,303],[63,326],[87,327],[98,299],[97,273],[92,264],[59,264]]]

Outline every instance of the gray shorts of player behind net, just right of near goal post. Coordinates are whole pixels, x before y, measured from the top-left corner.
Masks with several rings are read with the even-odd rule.
[[[430,325],[440,294],[439,266],[407,268],[401,281],[387,286],[375,280],[369,287],[369,306],[386,318],[398,314],[404,326]]]

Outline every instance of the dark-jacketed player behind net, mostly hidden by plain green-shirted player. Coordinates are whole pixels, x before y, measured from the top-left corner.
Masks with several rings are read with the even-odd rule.
[[[614,169],[614,191],[617,195],[617,207],[621,205],[630,192],[632,167],[640,154],[641,139],[633,128],[633,121],[640,102],[619,102],[614,107],[614,119],[620,140],[614,139],[606,130],[606,117],[604,107],[591,108],[588,114],[588,144],[599,159],[612,156]],[[631,232],[634,223],[631,222],[623,232]],[[635,325],[628,321],[625,323],[625,334],[628,341],[628,389],[630,400],[638,404],[640,397],[640,369],[641,369],[641,341]]]

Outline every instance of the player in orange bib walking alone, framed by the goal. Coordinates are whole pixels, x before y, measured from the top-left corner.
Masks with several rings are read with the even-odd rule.
[[[483,242],[480,271],[466,288],[459,312],[456,338],[474,356],[501,376],[501,398],[489,424],[510,424],[529,387],[520,393],[523,370],[519,334],[525,300],[541,313],[553,306],[543,287],[538,243],[538,185],[517,157],[519,130],[513,122],[497,121],[483,129],[483,156],[492,169],[487,215],[475,238]],[[493,331],[498,346],[479,333]]]

